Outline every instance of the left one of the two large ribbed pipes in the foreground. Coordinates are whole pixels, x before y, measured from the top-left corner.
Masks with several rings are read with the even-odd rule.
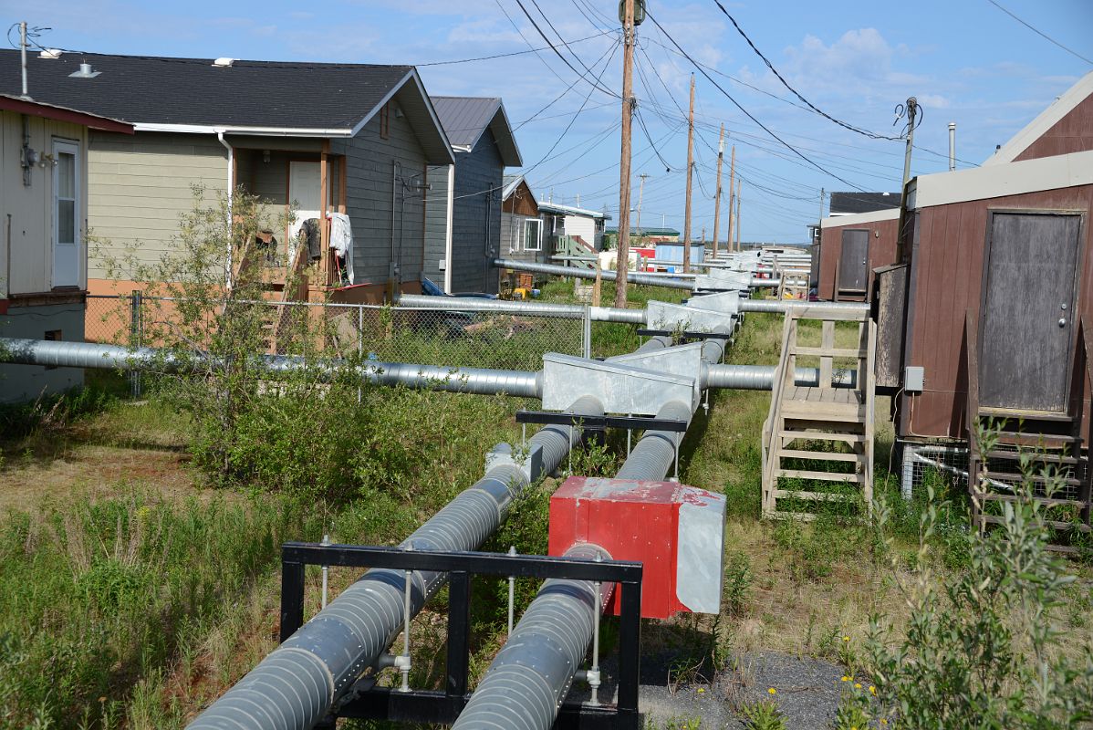
[[[587,396],[578,399],[572,410],[581,415],[603,414],[600,402]],[[569,426],[546,426],[529,439],[529,448],[542,448],[545,473],[554,471],[565,458],[574,434],[580,434],[579,426],[573,433]],[[497,529],[513,498],[528,483],[528,475],[520,467],[497,466],[399,546],[475,550]],[[425,570],[410,574],[414,615],[446,578],[446,574]],[[402,572],[368,570],[188,727],[192,730],[313,727],[395,640],[402,628],[404,590]]]

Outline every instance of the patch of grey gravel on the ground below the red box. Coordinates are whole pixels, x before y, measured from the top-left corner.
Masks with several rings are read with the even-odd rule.
[[[809,657],[763,651],[734,657],[731,669],[719,672],[713,681],[698,679],[693,683],[670,686],[668,667],[672,657],[643,657],[639,709],[645,727],[655,730],[686,728],[695,719],[702,730],[744,728],[736,709],[743,703],[768,699],[768,688],[777,692],[775,700],[792,730],[827,728],[838,706],[839,678],[845,670],[838,664]],[[604,662],[606,684],[601,697],[614,697],[614,658]],[[575,687],[571,700],[585,700],[587,690]]]

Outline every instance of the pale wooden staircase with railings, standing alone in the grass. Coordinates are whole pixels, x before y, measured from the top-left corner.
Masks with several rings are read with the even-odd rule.
[[[807,320],[820,321],[819,346],[802,344]],[[839,321],[857,322],[856,346],[835,346]],[[763,426],[764,517],[814,519],[816,514],[810,509],[824,503],[853,503],[859,495],[869,508],[875,348],[877,326],[865,314],[824,310],[821,306],[794,307],[786,314],[781,357]],[[819,384],[798,386],[796,368],[816,360]],[[836,360],[854,362],[858,373],[855,387],[836,387]],[[838,488],[839,484],[856,488]],[[791,503],[788,508],[787,503]]]

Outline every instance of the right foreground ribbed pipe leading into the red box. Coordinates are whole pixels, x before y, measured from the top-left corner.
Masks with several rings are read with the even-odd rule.
[[[598,545],[579,544],[566,557],[611,560]],[[606,605],[611,586],[600,586]],[[513,628],[453,730],[545,730],[573,683],[592,638],[596,584],[546,580]]]

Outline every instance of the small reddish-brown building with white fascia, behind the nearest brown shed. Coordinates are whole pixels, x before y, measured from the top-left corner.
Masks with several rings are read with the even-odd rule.
[[[873,270],[895,262],[898,192],[833,192],[812,279],[824,301],[865,301]]]

